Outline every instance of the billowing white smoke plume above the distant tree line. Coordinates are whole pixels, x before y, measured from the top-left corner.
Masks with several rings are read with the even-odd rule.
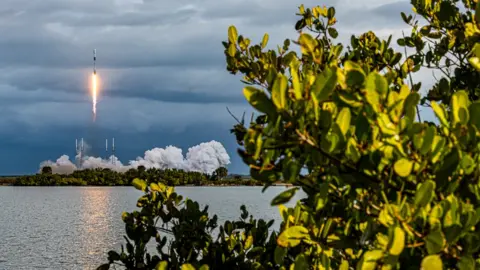
[[[75,159],[79,161],[80,155],[77,155]],[[40,170],[45,166],[50,166],[53,173],[69,174],[79,169],[75,163],[70,161],[67,155],[62,155],[55,162],[47,160],[40,163]],[[125,165],[115,156],[111,156],[109,159],[85,156],[81,169],[108,168],[125,172],[143,165],[147,169],[182,169],[212,174],[217,168],[225,167],[228,164],[230,164],[230,156],[223,145],[217,141],[210,141],[189,148],[185,157],[182,149],[175,146],[153,148],[146,151],[143,157],[137,157],[136,160],[131,160]]]

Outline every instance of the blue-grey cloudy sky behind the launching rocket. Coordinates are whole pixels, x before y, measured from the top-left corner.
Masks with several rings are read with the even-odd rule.
[[[234,24],[270,46],[295,38],[297,7],[334,5],[340,40],[369,29],[407,30],[393,0],[2,0],[0,6],[0,174],[33,173],[46,159],[74,155],[75,138],[115,137],[121,160],[153,147],[184,149],[217,140],[232,172],[247,168],[229,129],[248,110],[238,76],[225,69],[221,41]],[[97,49],[96,125],[88,93]],[[431,85],[429,73],[421,79]]]

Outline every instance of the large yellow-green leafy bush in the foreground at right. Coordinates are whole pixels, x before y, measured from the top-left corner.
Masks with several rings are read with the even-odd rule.
[[[479,269],[480,102],[478,83],[470,82],[480,70],[480,4],[476,13],[469,0],[461,3],[465,13],[458,1],[412,4],[429,24],[419,30],[402,14],[414,31],[398,43],[416,48],[404,58],[391,38],[372,32],[352,37],[343,52],[332,40],[333,8],[300,7],[300,56],[289,51],[289,40],[264,51],[268,35],[251,46],[230,27],[227,69],[245,75],[243,93],[260,112],[232,130],[239,154],[266,187],[282,180],[307,198],[286,208],[292,188],[272,201],[283,222],[269,237],[264,221],[247,225],[244,213],[215,239],[206,209],[181,206],[172,189],[136,180],[145,191],[142,209],[123,216],[134,243],[110,252],[102,268]],[[421,99],[411,73],[423,65],[445,77]],[[445,71],[452,65],[453,74]],[[420,102],[438,125],[420,120]],[[157,221],[171,225],[166,253]],[[145,250],[152,237],[159,255]]]

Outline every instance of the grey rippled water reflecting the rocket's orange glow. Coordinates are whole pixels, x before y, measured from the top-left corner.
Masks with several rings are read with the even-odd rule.
[[[275,219],[271,199],[284,187],[178,187],[209,205],[220,222],[237,219],[240,205],[255,218]],[[132,187],[0,187],[0,269],[95,269],[124,244],[123,211],[142,195]],[[297,194],[298,199],[300,195]],[[220,223],[219,222],[219,223]]]

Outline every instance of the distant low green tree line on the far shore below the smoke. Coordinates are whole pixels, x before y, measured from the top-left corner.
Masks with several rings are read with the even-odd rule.
[[[13,183],[16,186],[126,186],[133,179],[148,179],[169,186],[206,186],[206,185],[260,185],[252,179],[242,179],[240,176],[228,177],[228,170],[220,167],[211,175],[201,172],[187,172],[177,169],[147,169],[138,166],[126,172],[116,172],[110,169],[85,169],[72,174],[54,174],[52,168],[45,166],[41,173],[17,177]]]

